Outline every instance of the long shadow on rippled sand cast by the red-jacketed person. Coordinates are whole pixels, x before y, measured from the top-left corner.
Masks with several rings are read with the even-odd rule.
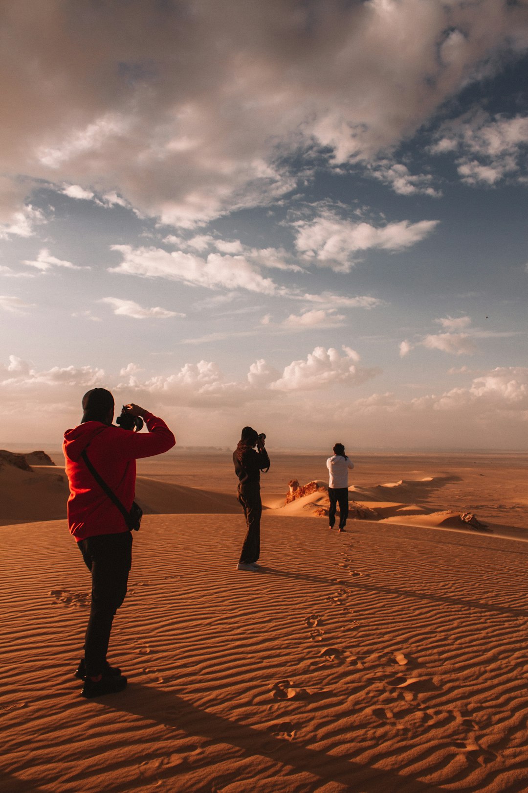
[[[158,722],[169,730],[189,736],[204,737],[213,744],[229,744],[242,749],[245,757],[262,756],[310,773],[322,782],[337,782],[351,791],[405,791],[405,793],[440,793],[442,788],[420,782],[413,776],[370,768],[337,757],[320,749],[310,749],[295,741],[281,740],[271,733],[246,726],[229,718],[203,711],[183,697],[141,684],[131,684],[123,694],[101,700],[112,710],[131,713]],[[280,718],[280,717],[278,717]],[[158,776],[173,776],[177,769],[159,769]]]

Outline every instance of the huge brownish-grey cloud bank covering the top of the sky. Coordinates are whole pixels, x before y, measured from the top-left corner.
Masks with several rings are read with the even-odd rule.
[[[67,25],[63,0],[2,10],[5,170],[182,226],[291,190],[285,151],[390,151],[527,39],[524,4],[496,0],[131,0]]]

